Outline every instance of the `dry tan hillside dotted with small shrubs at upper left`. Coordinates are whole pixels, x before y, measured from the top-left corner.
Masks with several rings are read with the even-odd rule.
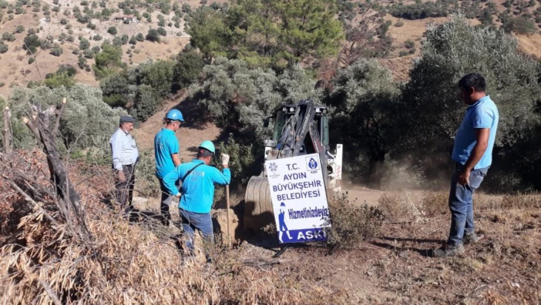
[[[225,2],[225,1],[218,1]],[[17,2],[18,3],[18,2]],[[140,62],[147,60],[166,59],[170,56],[175,56],[179,51],[189,42],[189,36],[184,33],[184,20],[180,18],[179,28],[174,26],[173,18],[175,12],[170,10],[169,14],[163,14],[160,9],[154,9],[153,12],[148,13],[151,17],[151,22],[148,22],[146,18],[138,22],[124,23],[122,20],[115,20],[117,16],[123,16],[123,11],[119,9],[119,3],[122,1],[108,0],[102,1],[100,6],[97,6],[97,2],[88,1],[74,1],[74,0],[41,0],[32,3],[39,3],[39,11],[34,11],[30,1],[26,1],[27,4],[22,5],[24,12],[22,14],[9,14],[9,7],[3,10],[2,23],[0,24],[0,33],[15,33],[14,41],[5,41],[8,46],[8,51],[4,54],[0,54],[0,77],[2,78],[3,86],[0,87],[0,95],[8,96],[11,92],[10,87],[15,85],[27,85],[29,81],[39,81],[45,78],[48,73],[55,72],[60,64],[71,64],[71,66],[77,67],[78,56],[73,54],[74,50],[80,48],[80,37],[87,38],[90,42],[90,49],[95,46],[101,46],[104,40],[113,41],[115,37],[122,37],[122,35],[128,35],[132,37],[138,33],[147,35],[150,28],[157,28],[159,22],[159,15],[164,16],[167,35],[162,38],[160,43],[142,41],[137,42],[135,47],[132,44],[122,45],[122,61],[126,62],[128,66],[136,65]],[[56,3],[56,4],[55,4]],[[86,3],[87,5],[83,5]],[[189,4],[191,7],[200,5],[197,0],[189,0],[176,2],[179,5]],[[8,5],[16,5],[15,1],[8,2]],[[101,5],[104,5],[102,8]],[[53,9],[58,7],[58,11]],[[103,9],[110,10],[110,16],[108,20],[91,18],[89,22],[95,25],[95,28],[88,27],[88,23],[81,23],[77,21],[74,15],[74,8],[78,7],[81,11],[85,8],[94,8],[95,12],[102,11]],[[142,7],[142,5],[135,6],[135,10],[142,15],[147,12],[148,9]],[[45,10],[49,8],[49,10]],[[45,12],[49,11],[49,18],[45,15]],[[67,15],[69,14],[69,15]],[[85,13],[86,14],[86,13]],[[103,13],[102,13],[103,14]],[[88,15],[88,14],[87,14]],[[85,16],[87,16],[85,15]],[[10,20],[12,16],[12,19]],[[169,26],[171,23],[171,26]],[[16,33],[17,27],[23,27],[22,33]],[[117,30],[116,35],[108,33],[110,27],[115,27]],[[50,49],[38,48],[35,54],[35,62],[28,63],[31,55],[27,54],[27,51],[23,49],[24,37],[28,34],[29,29],[34,29],[38,33],[38,37],[42,40],[51,39],[52,43],[58,43],[63,52],[60,56],[54,56],[50,54]],[[61,35],[71,36],[74,41],[69,39],[61,40]],[[95,40],[95,36],[101,36],[100,40]],[[131,49],[131,57],[127,53]],[[87,60],[88,66],[94,64],[93,59]],[[76,81],[82,83],[88,83],[91,85],[97,85],[93,71],[86,71],[84,69],[77,69]]]

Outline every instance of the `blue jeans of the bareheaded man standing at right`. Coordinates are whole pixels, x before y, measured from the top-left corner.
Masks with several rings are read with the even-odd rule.
[[[449,193],[449,209],[451,210],[451,229],[447,244],[456,246],[462,243],[464,233],[471,234],[473,225],[473,192],[479,188],[489,171],[489,167],[479,168],[470,173],[470,183],[460,185],[457,180],[464,166],[457,164],[456,171],[451,177]]]

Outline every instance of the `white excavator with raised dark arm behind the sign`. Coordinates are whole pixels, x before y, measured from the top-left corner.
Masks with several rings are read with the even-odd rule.
[[[342,144],[337,144],[334,154],[329,147],[328,110],[316,106],[312,100],[301,100],[292,105],[277,107],[273,116],[265,121],[268,127],[274,122],[273,138],[265,140],[265,160],[318,153],[325,187],[340,192],[342,180]],[[245,192],[244,229],[261,229],[274,223],[271,189],[265,166],[259,176],[252,176]]]

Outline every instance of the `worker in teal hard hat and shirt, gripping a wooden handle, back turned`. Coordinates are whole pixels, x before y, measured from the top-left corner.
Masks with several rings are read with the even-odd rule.
[[[206,241],[214,242],[212,229],[212,216],[210,209],[214,200],[214,184],[226,185],[231,183],[229,171],[229,155],[222,154],[223,172],[210,166],[216,150],[213,142],[203,141],[197,148],[197,158],[190,163],[184,163],[163,177],[170,194],[180,197],[179,213],[182,229],[187,238],[188,255],[194,254],[195,229],[203,233]],[[178,180],[182,182],[181,192],[175,185]],[[211,259],[206,254],[207,262]]]

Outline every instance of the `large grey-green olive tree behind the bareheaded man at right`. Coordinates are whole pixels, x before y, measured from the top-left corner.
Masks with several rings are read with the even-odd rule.
[[[524,185],[541,187],[541,179],[532,172],[541,170],[535,167],[541,165],[541,146],[535,141],[541,120],[539,71],[539,64],[520,54],[518,41],[502,30],[472,27],[464,16],[429,29],[396,112],[400,140],[393,147],[394,157],[409,156],[423,170],[422,176],[437,178],[429,174],[447,165],[464,115],[457,82],[464,74],[478,72],[486,77],[487,94],[500,114],[488,185],[497,179],[499,187],[509,189],[518,186],[512,180],[518,177]]]

